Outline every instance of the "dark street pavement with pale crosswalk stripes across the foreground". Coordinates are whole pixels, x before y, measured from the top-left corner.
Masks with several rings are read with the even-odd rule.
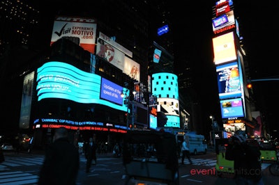
[[[6,161],[0,163],[0,184],[8,184],[7,177],[17,180],[18,184],[36,184],[38,180],[38,170],[43,163],[44,151],[33,150],[31,154],[27,152],[4,152]],[[217,175],[201,175],[196,173],[191,174],[191,170],[208,170],[211,171],[216,164],[216,159],[212,153],[211,157],[205,155],[191,156],[193,165],[185,161],[186,165],[179,166],[179,176],[181,184],[202,185],[215,184],[215,185],[233,185],[234,179],[232,175],[224,175],[218,177]],[[85,172],[86,159],[84,155],[80,156],[81,166],[77,178],[77,185],[93,184],[93,185],[123,185],[125,184],[125,169],[122,165],[121,158],[115,158],[111,153],[98,154],[97,165],[92,165],[91,172]],[[179,159],[181,163],[181,159]],[[18,168],[17,168],[18,166]],[[26,166],[26,168],[24,168]],[[274,177],[269,173],[269,164],[263,163],[264,184],[278,184],[279,177]],[[10,168],[10,169],[9,169]],[[25,180],[24,180],[25,178]],[[29,179],[28,179],[29,178]],[[28,180],[27,180],[28,179]],[[15,182],[10,183],[15,185]]]

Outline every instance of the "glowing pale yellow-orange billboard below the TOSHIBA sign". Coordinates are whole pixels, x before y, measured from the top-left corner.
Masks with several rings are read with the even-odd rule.
[[[236,60],[236,47],[234,44],[234,32],[225,33],[212,39],[213,62],[218,65]]]

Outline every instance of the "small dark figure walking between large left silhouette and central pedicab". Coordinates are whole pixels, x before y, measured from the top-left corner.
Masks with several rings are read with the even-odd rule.
[[[96,156],[96,143],[94,142],[93,138],[89,138],[89,143],[86,143],[85,145],[85,157],[87,159],[86,161],[86,172],[90,172],[92,160],[95,161],[95,164],[97,164],[97,156]]]

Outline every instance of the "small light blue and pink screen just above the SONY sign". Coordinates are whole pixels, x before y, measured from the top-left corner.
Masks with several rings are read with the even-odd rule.
[[[221,100],[220,107],[223,119],[244,117],[241,98]]]

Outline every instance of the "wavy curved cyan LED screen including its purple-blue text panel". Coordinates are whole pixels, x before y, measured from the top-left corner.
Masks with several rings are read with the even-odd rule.
[[[121,86],[101,80],[97,74],[79,70],[73,65],[61,62],[45,63],[37,70],[38,101],[45,98],[69,99],[82,104],[103,104],[121,111],[127,111],[120,96]],[[102,99],[101,94],[102,83]],[[105,95],[105,96],[103,96]]]

